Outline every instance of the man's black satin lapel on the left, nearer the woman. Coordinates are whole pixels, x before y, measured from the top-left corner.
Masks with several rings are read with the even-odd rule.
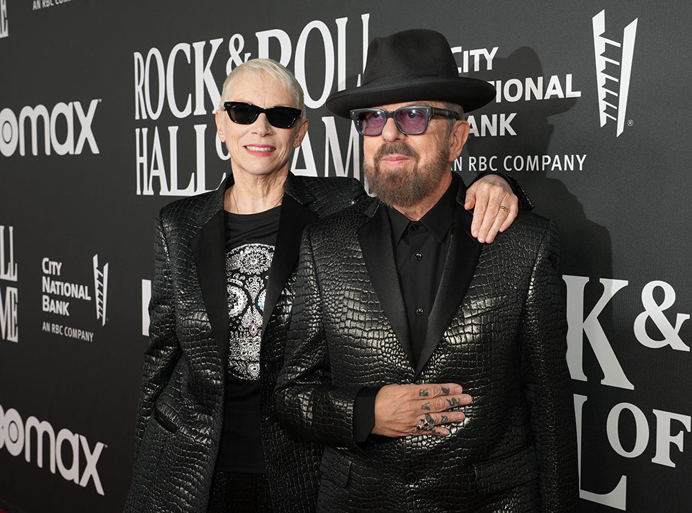
[[[408,333],[408,319],[403,305],[397,265],[392,249],[392,230],[384,206],[380,206],[369,222],[358,231],[363,260],[370,276],[370,282],[380,300],[382,309],[392,325],[394,334],[403,350],[413,361],[411,341]]]

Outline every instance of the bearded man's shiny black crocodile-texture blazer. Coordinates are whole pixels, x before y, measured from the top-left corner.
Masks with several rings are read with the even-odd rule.
[[[578,475],[564,283],[554,224],[521,211],[493,244],[457,219],[421,358],[412,363],[385,208],[307,228],[275,404],[325,444],[319,512],[567,512]],[[447,437],[353,438],[358,390],[455,382],[473,396]]]

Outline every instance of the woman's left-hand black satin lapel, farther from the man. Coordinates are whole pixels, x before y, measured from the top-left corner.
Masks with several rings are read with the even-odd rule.
[[[221,361],[228,353],[228,291],[226,291],[226,235],[224,210],[219,210],[192,239],[192,255],[202,298],[219,345]]]

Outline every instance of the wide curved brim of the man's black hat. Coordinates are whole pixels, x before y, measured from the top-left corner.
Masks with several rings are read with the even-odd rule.
[[[484,80],[466,77],[401,75],[372,80],[361,87],[332,93],[325,103],[337,116],[350,118],[352,109],[417,100],[457,103],[464,112],[483,107],[495,98],[495,87]]]

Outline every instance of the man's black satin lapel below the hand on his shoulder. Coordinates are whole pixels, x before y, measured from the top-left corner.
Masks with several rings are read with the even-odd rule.
[[[428,317],[428,331],[416,366],[416,377],[423,370],[442,335],[459,311],[466,296],[468,284],[473,278],[483,244],[471,235],[471,219],[471,213],[466,212],[461,205],[457,204],[457,219],[450,229],[449,250],[435,303]]]

